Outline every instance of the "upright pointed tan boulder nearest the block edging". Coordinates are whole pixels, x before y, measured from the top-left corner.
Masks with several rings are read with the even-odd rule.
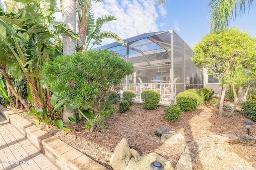
[[[130,152],[130,147],[125,138],[123,138],[120,143],[116,145],[114,153],[110,158],[110,166],[113,170],[124,170],[128,164],[132,154]]]

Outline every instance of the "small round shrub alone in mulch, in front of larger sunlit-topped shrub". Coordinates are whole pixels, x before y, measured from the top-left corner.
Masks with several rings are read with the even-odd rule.
[[[182,116],[182,111],[180,107],[170,104],[170,106],[164,108],[164,115],[167,121],[171,121],[173,123]]]

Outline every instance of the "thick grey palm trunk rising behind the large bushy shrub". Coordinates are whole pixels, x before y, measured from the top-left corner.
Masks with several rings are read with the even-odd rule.
[[[66,28],[76,32],[76,0],[62,0],[62,23],[66,24]],[[62,46],[63,56],[71,55],[76,51],[76,39],[68,34],[63,34]],[[76,125],[76,123],[71,122],[68,117],[76,118],[74,109],[63,110],[63,121],[66,125]]]

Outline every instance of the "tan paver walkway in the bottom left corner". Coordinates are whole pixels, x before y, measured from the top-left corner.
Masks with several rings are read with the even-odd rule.
[[[0,115],[0,170],[58,170],[58,168]]]

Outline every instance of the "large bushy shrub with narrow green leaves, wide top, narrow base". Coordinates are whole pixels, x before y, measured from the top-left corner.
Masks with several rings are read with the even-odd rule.
[[[100,127],[103,117],[112,113],[108,112],[110,105],[105,100],[106,94],[134,72],[131,63],[107,50],[57,57],[48,60],[42,70],[44,83],[59,100],[74,105],[90,124],[90,131],[95,125],[96,129]],[[92,112],[84,114],[82,109]]]

